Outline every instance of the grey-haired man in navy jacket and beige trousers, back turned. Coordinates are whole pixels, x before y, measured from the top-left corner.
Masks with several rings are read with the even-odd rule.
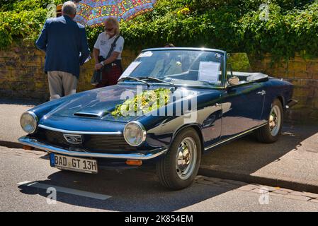
[[[76,23],[76,5],[67,1],[62,6],[62,16],[45,21],[40,37],[35,42],[46,52],[50,100],[76,93],[79,66],[89,57],[89,46],[84,25]]]

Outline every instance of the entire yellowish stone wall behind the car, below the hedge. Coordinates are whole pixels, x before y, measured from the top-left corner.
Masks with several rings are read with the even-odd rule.
[[[137,52],[123,52],[123,67],[135,59]],[[15,44],[0,51],[0,97],[23,97],[48,100],[47,76],[43,72],[45,54],[33,43]],[[271,64],[271,56],[262,60],[249,56],[253,71],[283,78],[295,85],[293,98],[299,104],[290,109],[292,120],[318,121],[318,59],[305,60],[299,56],[279,64]],[[78,92],[93,88],[90,83],[94,61],[81,67]]]

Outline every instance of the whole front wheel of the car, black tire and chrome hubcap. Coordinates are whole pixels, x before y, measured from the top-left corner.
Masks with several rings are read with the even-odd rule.
[[[183,129],[166,153],[157,162],[157,174],[162,185],[169,189],[190,186],[198,174],[201,161],[201,143],[193,128]]]

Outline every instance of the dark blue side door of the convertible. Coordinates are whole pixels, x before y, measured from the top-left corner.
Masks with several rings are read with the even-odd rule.
[[[221,95],[221,140],[261,124],[266,91],[261,82],[229,86]]]

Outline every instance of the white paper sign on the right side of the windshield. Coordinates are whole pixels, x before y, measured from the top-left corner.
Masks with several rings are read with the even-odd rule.
[[[202,61],[199,66],[199,81],[215,83],[219,80],[220,63],[213,61]]]

